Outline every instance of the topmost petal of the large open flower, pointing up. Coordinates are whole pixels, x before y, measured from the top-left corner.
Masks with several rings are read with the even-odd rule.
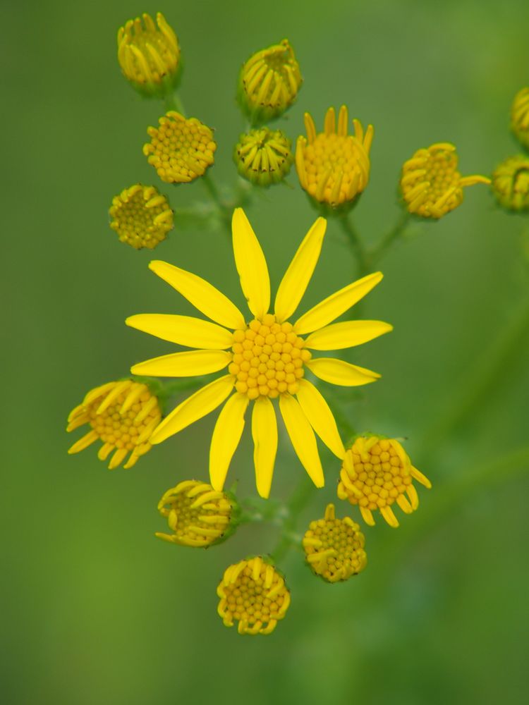
[[[233,255],[241,278],[241,288],[250,311],[260,319],[270,307],[270,278],[265,255],[242,208],[233,211],[231,230]]]

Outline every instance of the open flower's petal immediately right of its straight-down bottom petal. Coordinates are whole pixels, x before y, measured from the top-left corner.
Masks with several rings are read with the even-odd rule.
[[[317,487],[323,487],[322,463],[318,455],[316,437],[307,417],[290,394],[282,394],[279,397],[279,409],[301,465],[308,472],[312,482]]]

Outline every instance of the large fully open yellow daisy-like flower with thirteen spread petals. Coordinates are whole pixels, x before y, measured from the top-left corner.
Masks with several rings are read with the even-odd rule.
[[[305,368],[324,381],[342,386],[368,384],[379,378],[376,372],[343,360],[312,359],[310,350],[350,348],[391,330],[389,324],[381,321],[332,324],[379,283],[380,272],[337,291],[293,324],[288,321],[296,312],[320,257],[326,226],[327,222],[318,218],[305,236],[279,285],[274,313],[269,312],[270,280],[265,256],[243,210],[238,208],[233,213],[233,252],[251,312],[250,321],[247,323],[241,311],[207,281],[166,262],[151,262],[150,268],[214,323],[163,314],[140,314],[126,320],[129,326],[162,340],[200,348],[140,362],[132,368],[133,374],[183,377],[229,368],[228,374],[178,405],[151,438],[152,443],[161,443],[227,399],[217,419],[209,452],[209,477],[214,489],[220,491],[224,486],[243,432],[245,411],[253,400],[257,491],[262,497],[269,496],[277,450],[272,399],[277,397],[300,462],[316,486],[322,487],[323,470],[312,429],[339,458],[343,458],[345,450],[323,396],[303,379]]]

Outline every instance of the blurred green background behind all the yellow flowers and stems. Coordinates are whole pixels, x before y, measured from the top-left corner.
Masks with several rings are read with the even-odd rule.
[[[107,225],[122,188],[162,186],[141,152],[162,109],[123,80],[115,43],[125,20],[157,10],[181,42],[188,113],[216,128],[220,185],[236,177],[238,69],[283,37],[305,83],[278,126],[296,137],[303,111],[322,125],[342,102],[375,125],[372,179],[355,211],[370,243],[398,216],[399,168],[418,147],[454,142],[464,174],[519,151],[508,123],[529,83],[525,0],[4,1],[2,701],[525,701],[528,220],[500,212],[487,188],[467,190],[461,208],[384,259],[363,314],[395,331],[348,357],[383,377],[341,395],[358,428],[409,439],[434,489],[419,490],[400,529],[366,527],[369,565],[355,580],[324,584],[291,552],[282,568],[292,605],[270,637],[227,630],[215,588],[226,565],[272,549],[274,527],[244,527],[211,551],[153,536],[162,492],[206,477],[215,415],[129,472],[106,470],[95,447],[66,455],[66,415],[85,392],[166,350],[123,319],[192,310],[147,270],[150,252],[121,245]],[[289,183],[248,209],[272,286],[315,217],[295,173]],[[177,213],[205,197],[200,180],[162,190]],[[242,303],[224,233],[176,217],[156,256]],[[355,275],[342,238],[329,223],[304,307]],[[243,493],[253,492],[249,435],[230,472]],[[327,488],[300,529],[334,497],[339,467],[322,457]],[[302,474],[283,439],[274,495],[288,496]]]

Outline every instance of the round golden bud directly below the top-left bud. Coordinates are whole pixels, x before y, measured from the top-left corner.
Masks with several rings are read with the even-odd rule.
[[[197,118],[169,111],[159,118],[159,128],[148,128],[151,141],[143,154],[166,183],[188,183],[202,176],[214,162],[217,145],[213,133]]]

